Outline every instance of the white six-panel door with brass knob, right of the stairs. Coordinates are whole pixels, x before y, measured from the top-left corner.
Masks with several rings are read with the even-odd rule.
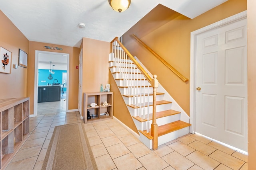
[[[195,131],[247,152],[247,20],[196,39]]]

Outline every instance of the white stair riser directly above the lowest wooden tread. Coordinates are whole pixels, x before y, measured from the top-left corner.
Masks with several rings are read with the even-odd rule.
[[[147,115],[146,115],[146,119],[147,119]],[[138,130],[144,131],[147,129],[147,121],[140,122],[134,118],[133,118],[133,120],[134,120],[134,123]],[[160,118],[156,119],[156,123],[158,126],[161,126],[161,125],[165,125],[167,123],[172,123],[172,122],[178,121],[178,120],[180,120],[180,114],[170,115],[170,116],[166,116],[166,117],[160,117]],[[151,124],[152,124],[152,120],[149,121],[149,125],[150,125],[149,128],[151,128]]]

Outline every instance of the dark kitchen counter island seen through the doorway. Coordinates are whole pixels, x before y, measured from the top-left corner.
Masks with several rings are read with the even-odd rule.
[[[60,84],[58,85],[42,85],[38,86],[37,102],[56,102],[60,101],[61,92]]]

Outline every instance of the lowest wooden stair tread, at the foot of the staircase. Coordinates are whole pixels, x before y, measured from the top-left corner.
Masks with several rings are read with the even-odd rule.
[[[172,123],[168,123],[165,125],[158,126],[158,137],[168,134],[168,133],[171,133],[171,132],[174,132],[174,131],[177,131],[177,130],[180,130],[180,129],[182,129],[184,127],[188,127],[188,126],[191,126],[191,124],[186,123],[184,121],[180,121],[180,120],[174,121]],[[148,139],[153,139],[153,137],[151,136],[151,129],[149,129],[149,133],[147,133],[146,130],[144,130],[144,131],[139,130],[139,131],[140,131],[140,133],[142,133],[143,135],[148,137]]]

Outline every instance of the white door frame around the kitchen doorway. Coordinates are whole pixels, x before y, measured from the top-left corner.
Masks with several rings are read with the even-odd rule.
[[[47,54],[54,54],[56,52],[49,52],[49,51],[35,51],[35,76],[34,76],[34,116],[37,116],[37,104],[38,104],[38,54],[39,53],[47,53]],[[69,83],[69,54],[68,53],[58,53],[67,56],[67,82]],[[68,83],[67,83],[67,90],[66,90],[66,112],[68,112]]]

